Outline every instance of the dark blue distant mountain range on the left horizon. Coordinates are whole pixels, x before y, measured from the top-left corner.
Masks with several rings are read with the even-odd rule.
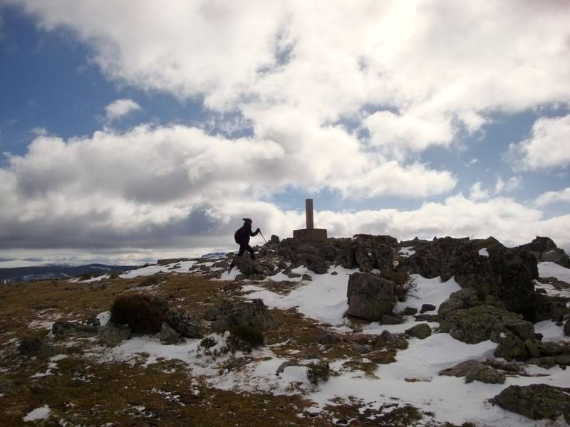
[[[110,271],[117,273],[140,268],[140,265],[31,265],[0,268],[0,283],[29,282],[31,280],[67,279],[82,274],[100,275]]]

